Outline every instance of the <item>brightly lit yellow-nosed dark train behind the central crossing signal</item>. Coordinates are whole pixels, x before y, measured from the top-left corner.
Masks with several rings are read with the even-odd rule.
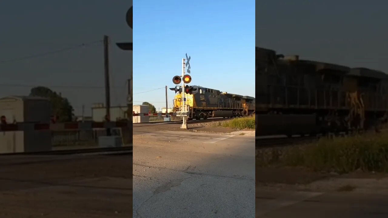
[[[219,90],[192,86],[191,94],[185,93],[189,119],[241,117],[255,113],[255,98],[220,92]],[[182,93],[175,95],[173,111],[182,109]]]

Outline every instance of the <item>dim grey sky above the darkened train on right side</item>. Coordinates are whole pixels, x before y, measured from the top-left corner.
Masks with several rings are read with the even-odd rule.
[[[387,1],[271,0],[256,5],[256,45],[388,72]]]

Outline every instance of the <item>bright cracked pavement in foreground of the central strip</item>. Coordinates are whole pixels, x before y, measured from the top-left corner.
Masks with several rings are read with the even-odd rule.
[[[134,218],[255,217],[255,137],[133,134]]]

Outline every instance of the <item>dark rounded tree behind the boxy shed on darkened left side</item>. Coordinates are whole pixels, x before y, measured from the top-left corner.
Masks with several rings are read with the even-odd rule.
[[[74,109],[67,98],[62,97],[61,93],[53,92],[47,87],[31,88],[30,96],[39,96],[50,99],[52,106],[52,116],[58,116],[58,122],[71,121],[74,116]]]

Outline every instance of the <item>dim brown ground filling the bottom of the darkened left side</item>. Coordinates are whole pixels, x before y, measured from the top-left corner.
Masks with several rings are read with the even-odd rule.
[[[0,157],[1,218],[132,215],[131,155],[23,158]]]

